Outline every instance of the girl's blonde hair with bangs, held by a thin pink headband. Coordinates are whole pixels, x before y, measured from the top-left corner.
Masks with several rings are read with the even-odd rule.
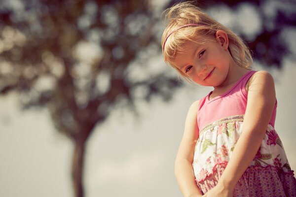
[[[166,9],[164,13],[164,20],[167,25],[161,38],[163,58],[166,63],[174,67],[185,79],[190,81],[188,76],[174,65],[176,53],[182,50],[181,45],[187,40],[194,39],[197,35],[213,35],[214,37],[218,30],[222,30],[227,34],[229,41],[228,50],[234,62],[248,70],[252,69],[253,58],[243,40],[208,14],[201,11],[192,2],[175,4]],[[198,25],[187,26],[188,24]]]

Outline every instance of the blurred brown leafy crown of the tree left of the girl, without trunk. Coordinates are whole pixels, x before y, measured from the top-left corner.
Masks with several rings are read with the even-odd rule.
[[[130,77],[132,66],[158,52],[157,18],[147,2],[28,0],[1,12],[0,92],[20,92],[25,107],[48,106],[58,131],[73,139],[92,131],[115,103],[132,104],[137,88],[143,99],[169,99],[167,87],[177,85],[163,74]],[[94,55],[83,60],[79,50]]]

